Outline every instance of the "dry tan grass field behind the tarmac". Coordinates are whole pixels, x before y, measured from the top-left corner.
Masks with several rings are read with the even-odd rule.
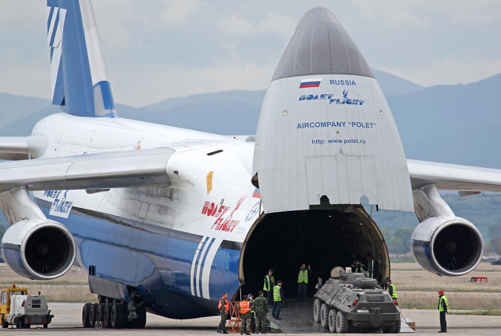
[[[402,308],[436,309],[437,291],[443,289],[451,309],[477,311],[476,314],[499,314],[501,307],[501,265],[480,263],[467,275],[445,277],[430,274],[415,262],[393,263],[391,277],[397,287]],[[486,276],[487,283],[469,282],[471,276]],[[0,263],[0,286],[16,283],[32,293],[41,291],[50,302],[95,302],[87,284],[87,272],[73,267],[60,278],[50,281],[28,280]],[[486,312],[484,312],[486,311]]]

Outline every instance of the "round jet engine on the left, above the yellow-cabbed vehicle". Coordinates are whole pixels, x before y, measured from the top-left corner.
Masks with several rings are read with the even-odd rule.
[[[19,275],[50,280],[65,274],[73,265],[76,245],[64,225],[49,219],[25,219],[5,232],[2,256]]]

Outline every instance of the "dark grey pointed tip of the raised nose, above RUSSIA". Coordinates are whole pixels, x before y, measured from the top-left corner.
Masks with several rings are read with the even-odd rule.
[[[331,11],[308,11],[294,30],[280,58],[272,82],[310,75],[373,77],[364,57]]]

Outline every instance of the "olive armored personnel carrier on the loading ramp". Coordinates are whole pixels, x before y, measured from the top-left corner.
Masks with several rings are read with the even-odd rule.
[[[376,279],[341,270],[323,285],[319,279],[317,288],[313,318],[331,332],[348,332],[348,326],[400,332],[400,308]]]

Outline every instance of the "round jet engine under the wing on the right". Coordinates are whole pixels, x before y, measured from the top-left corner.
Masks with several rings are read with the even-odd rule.
[[[473,270],[483,253],[483,240],[471,222],[460,217],[430,217],[412,233],[414,259],[438,275],[459,276]]]

